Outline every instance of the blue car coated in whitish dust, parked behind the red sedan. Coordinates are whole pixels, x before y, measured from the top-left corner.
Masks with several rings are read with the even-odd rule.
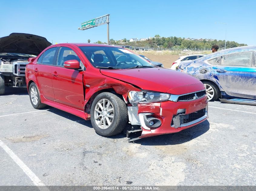
[[[180,63],[178,71],[201,80],[208,100],[256,105],[256,46],[221,50]]]

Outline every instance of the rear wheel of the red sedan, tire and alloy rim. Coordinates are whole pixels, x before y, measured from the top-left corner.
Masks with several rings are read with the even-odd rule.
[[[35,109],[44,108],[46,105],[41,103],[39,90],[34,82],[29,86],[29,98],[32,106]]]

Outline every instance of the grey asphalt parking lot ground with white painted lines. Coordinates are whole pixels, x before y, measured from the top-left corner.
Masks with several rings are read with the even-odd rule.
[[[26,88],[8,88],[0,105],[0,185],[256,185],[255,106],[209,102],[203,123],[128,143],[35,110]]]

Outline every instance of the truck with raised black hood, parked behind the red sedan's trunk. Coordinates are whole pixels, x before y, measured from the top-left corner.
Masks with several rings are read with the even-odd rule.
[[[25,87],[28,58],[37,56],[51,44],[44,37],[26,33],[0,38],[0,95],[5,94],[5,86]]]

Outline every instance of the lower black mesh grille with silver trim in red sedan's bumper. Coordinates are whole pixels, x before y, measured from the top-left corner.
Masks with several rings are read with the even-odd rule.
[[[207,117],[207,108],[189,114],[178,114],[172,118],[171,127],[185,127],[198,123]]]

